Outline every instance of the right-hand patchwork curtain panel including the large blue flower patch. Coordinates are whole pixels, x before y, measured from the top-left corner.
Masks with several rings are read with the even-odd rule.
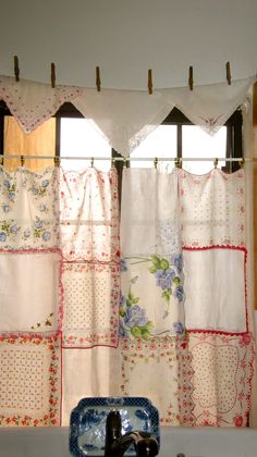
[[[127,169],[122,197],[124,394],[147,393],[163,424],[247,425],[244,171]]]

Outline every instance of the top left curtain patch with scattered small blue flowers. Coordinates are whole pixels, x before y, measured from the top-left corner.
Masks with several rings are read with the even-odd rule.
[[[0,166],[0,249],[47,249],[60,243],[54,169],[32,173]]]

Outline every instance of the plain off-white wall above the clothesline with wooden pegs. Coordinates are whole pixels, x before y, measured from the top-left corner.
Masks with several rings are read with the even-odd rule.
[[[0,0],[0,74],[102,87],[187,85],[221,82],[231,62],[232,77],[257,71],[256,0]]]

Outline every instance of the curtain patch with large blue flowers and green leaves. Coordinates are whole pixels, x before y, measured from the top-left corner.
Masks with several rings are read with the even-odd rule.
[[[121,265],[120,335],[183,335],[182,255],[131,257]]]

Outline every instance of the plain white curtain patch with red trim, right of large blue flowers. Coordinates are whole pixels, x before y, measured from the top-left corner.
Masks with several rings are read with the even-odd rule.
[[[245,252],[184,250],[187,330],[246,332]]]

